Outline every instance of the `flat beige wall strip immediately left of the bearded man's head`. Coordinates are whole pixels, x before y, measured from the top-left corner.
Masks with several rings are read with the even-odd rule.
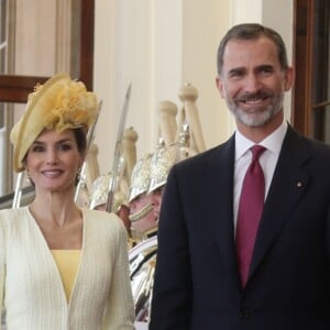
[[[231,133],[229,112],[216,87],[217,50],[230,26],[230,1],[185,0],[183,16],[183,77],[198,89],[197,106],[206,146],[211,147]]]

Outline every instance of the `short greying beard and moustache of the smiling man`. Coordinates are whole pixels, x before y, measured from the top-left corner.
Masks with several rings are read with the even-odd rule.
[[[232,101],[226,99],[229,110],[233,113],[237,121],[243,123],[250,128],[263,127],[267,123],[278,111],[283,108],[284,94],[279,94],[274,98],[273,103],[268,105],[265,109],[253,109],[242,110],[238,102],[241,100],[256,100],[257,98],[266,97],[267,94],[257,94],[257,95],[245,95],[244,97],[237,98]]]

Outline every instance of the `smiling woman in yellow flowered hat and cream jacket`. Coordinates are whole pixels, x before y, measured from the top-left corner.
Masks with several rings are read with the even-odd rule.
[[[7,329],[133,329],[127,233],[74,200],[97,99],[61,74],[30,95],[11,132],[14,169],[35,186],[31,205],[0,211],[0,310]]]

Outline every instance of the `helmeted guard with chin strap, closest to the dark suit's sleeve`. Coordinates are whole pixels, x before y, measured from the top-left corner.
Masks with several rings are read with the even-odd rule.
[[[135,321],[147,322],[147,305],[156,254],[157,218],[153,212],[152,196],[147,194],[151,174],[147,154],[138,161],[131,177],[130,221],[135,246],[129,251],[131,286],[135,306]],[[146,244],[146,245],[145,245]],[[145,248],[146,246],[146,248]]]

